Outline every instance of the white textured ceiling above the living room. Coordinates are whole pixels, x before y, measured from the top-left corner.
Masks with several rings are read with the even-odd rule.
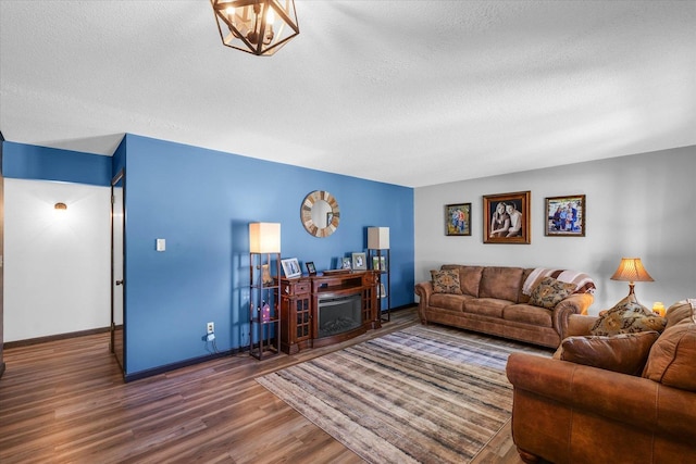
[[[210,3],[0,0],[0,130],[124,133],[420,187],[696,145],[696,1],[296,1],[274,57]]]

